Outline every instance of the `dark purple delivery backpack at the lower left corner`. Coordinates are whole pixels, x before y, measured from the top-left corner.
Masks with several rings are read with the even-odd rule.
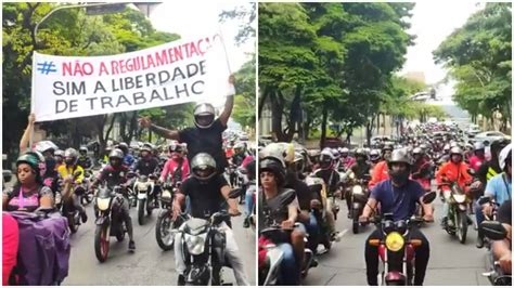
[[[60,285],[69,267],[67,219],[59,212],[11,212],[11,215],[18,224],[20,245],[10,285]]]

